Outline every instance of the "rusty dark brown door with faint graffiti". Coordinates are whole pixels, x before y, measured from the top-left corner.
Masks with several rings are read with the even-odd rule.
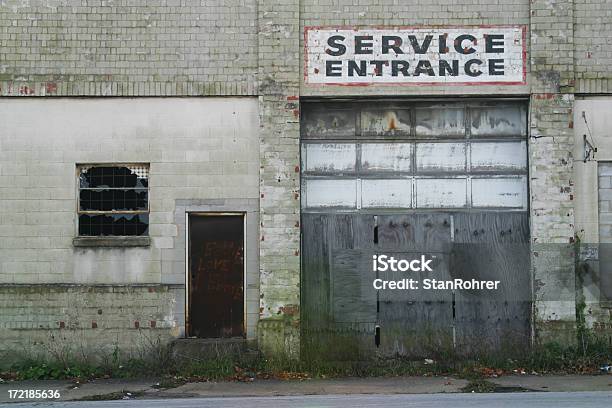
[[[244,336],[244,217],[189,215],[187,335]]]

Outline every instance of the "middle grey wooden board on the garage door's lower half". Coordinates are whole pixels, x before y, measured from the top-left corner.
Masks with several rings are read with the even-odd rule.
[[[378,272],[385,280],[449,278],[450,218],[445,214],[378,217],[378,252],[396,259],[433,259],[433,272]],[[452,348],[452,294],[448,291],[380,290],[379,353],[431,357]]]

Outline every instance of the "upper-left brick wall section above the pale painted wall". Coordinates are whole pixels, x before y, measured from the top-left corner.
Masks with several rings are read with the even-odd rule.
[[[255,95],[257,0],[0,2],[0,95]]]

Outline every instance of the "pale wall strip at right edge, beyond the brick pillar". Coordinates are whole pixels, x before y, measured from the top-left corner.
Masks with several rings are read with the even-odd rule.
[[[592,333],[612,339],[612,97],[582,96],[574,107],[576,233],[580,239],[582,318]],[[584,135],[597,148],[586,160]]]

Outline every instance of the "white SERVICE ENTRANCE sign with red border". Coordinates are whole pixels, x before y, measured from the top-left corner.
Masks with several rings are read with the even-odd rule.
[[[306,27],[304,76],[326,85],[523,85],[525,26]]]

